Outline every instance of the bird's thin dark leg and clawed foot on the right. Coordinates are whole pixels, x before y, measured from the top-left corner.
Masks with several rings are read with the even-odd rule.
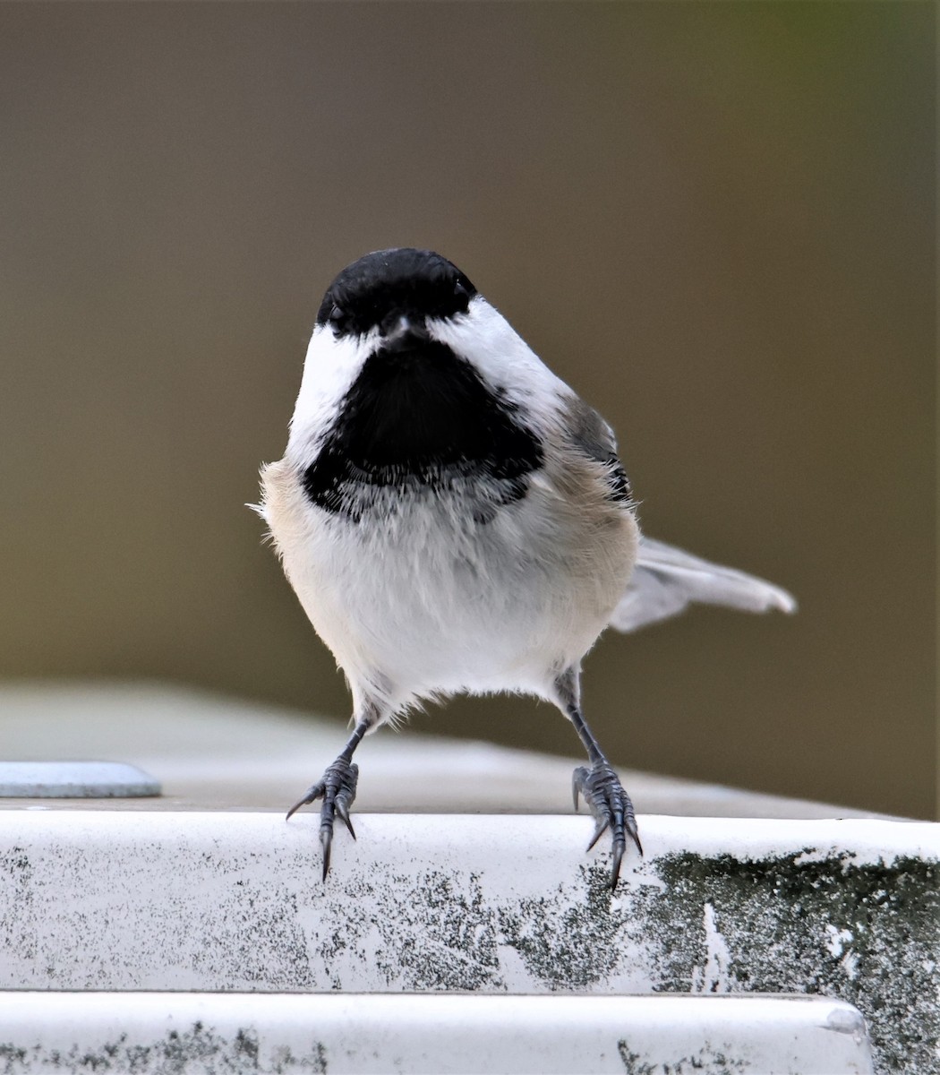
[[[563,672],[555,679],[554,686],[558,691],[558,704],[575,726],[591,762],[590,768],[579,765],[574,772],[572,791],[575,809],[578,808],[578,794],[580,793],[584,797],[584,802],[590,807],[597,825],[591,843],[588,845],[588,850],[608,829],[610,830],[613,850],[610,890],[613,891],[620,876],[620,863],[626,850],[627,835],[636,844],[636,849],[640,855],[643,852],[637,833],[633,803],[630,801],[630,796],[623,790],[620,777],[605,757],[581,714],[580,670],[575,668]]]

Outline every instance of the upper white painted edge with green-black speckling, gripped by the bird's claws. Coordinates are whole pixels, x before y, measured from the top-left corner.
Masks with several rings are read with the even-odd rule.
[[[938,1075],[940,827],[643,817],[614,897],[588,818],[0,812],[0,988],[796,992]]]

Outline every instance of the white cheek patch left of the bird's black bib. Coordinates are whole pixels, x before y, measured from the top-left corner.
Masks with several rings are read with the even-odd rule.
[[[290,419],[287,454],[298,462],[313,462],[319,442],[335,420],[339,403],[375,350],[378,330],[362,336],[335,339],[318,325],[310,336],[300,393]]]

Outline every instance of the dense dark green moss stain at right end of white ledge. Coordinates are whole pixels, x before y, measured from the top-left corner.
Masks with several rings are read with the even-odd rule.
[[[881,1071],[940,1072],[938,864],[849,855],[656,862],[668,897],[661,942],[708,901],[729,954],[735,991],[806,992],[854,1004]],[[660,988],[681,988],[676,966]]]

